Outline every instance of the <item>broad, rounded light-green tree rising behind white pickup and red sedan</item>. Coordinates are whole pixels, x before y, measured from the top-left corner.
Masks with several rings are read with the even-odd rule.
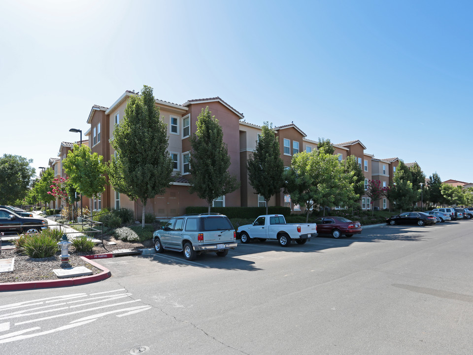
[[[313,206],[335,207],[353,199],[351,175],[344,174],[338,157],[325,151],[301,152],[292,157],[286,173],[286,192],[296,204],[304,204],[306,221]],[[324,209],[325,213],[325,209]]]

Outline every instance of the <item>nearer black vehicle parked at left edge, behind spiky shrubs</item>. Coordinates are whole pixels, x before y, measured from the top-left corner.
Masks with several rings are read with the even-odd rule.
[[[0,208],[0,233],[34,234],[48,228],[45,218],[22,217]]]

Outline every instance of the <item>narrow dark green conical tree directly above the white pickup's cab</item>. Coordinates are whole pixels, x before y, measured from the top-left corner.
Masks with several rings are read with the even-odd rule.
[[[247,166],[250,184],[255,193],[265,198],[268,214],[271,196],[279,192],[284,184],[284,164],[279,155],[279,142],[268,122],[263,124],[256,149],[248,158]]]

